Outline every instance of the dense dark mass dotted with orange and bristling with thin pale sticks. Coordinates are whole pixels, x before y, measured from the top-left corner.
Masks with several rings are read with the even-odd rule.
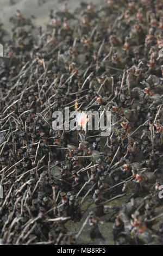
[[[4,245],[76,245],[86,224],[116,245],[163,243],[162,0],[82,2],[39,29],[17,11],[0,71],[0,228]],[[53,112],[111,111],[111,134],[55,131]],[[85,199],[95,207],[78,233]],[[110,205],[117,198],[124,205]]]

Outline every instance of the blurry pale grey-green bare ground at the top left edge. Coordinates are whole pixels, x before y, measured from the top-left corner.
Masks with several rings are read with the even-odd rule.
[[[48,22],[49,10],[61,10],[65,2],[72,13],[81,2],[97,4],[105,0],[0,0],[0,22],[3,23],[3,28],[10,32],[9,19],[16,13],[16,10],[20,10],[24,17],[34,15],[36,17],[34,24],[40,26]]]

